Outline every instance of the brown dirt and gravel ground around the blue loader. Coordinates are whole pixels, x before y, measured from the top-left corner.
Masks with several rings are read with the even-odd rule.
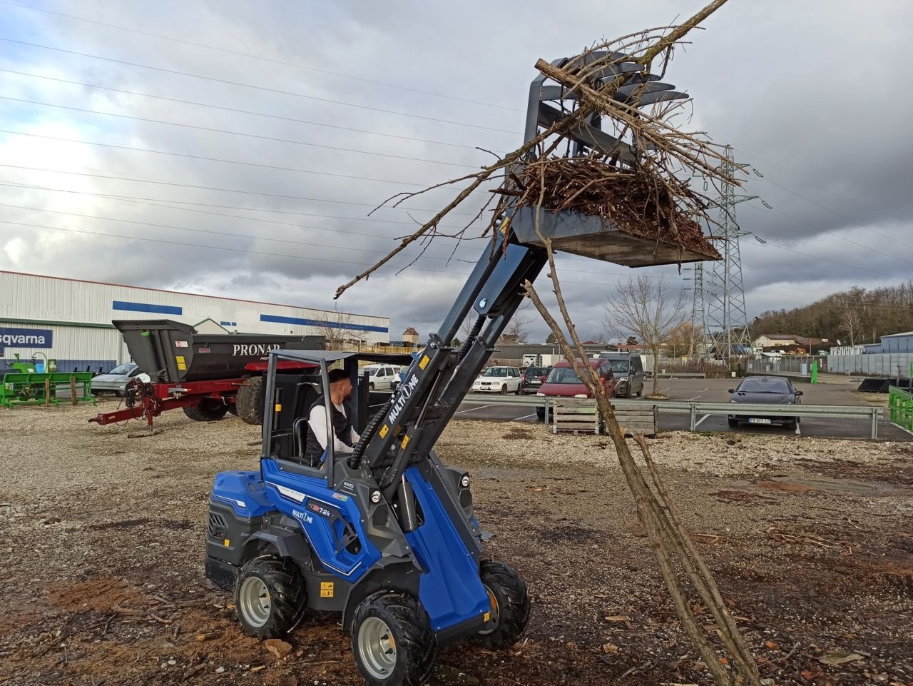
[[[140,425],[86,423],[97,411],[0,411],[0,684],[360,683],[337,617],[278,658],[205,581],[207,492],[256,469],[257,427],[171,412],[131,439]],[[650,443],[765,684],[913,684],[913,444]],[[471,470],[533,617],[509,651],[443,649],[434,686],[709,682],[604,438],[455,421],[438,449]]]

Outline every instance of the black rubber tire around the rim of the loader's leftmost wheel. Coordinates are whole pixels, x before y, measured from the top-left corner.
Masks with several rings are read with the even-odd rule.
[[[242,604],[238,602],[241,586],[251,576],[257,576],[269,593],[269,618],[261,627],[247,621]],[[255,557],[241,567],[235,581],[235,614],[241,630],[247,636],[260,640],[280,639],[289,634],[298,626],[306,609],[306,600],[304,578],[298,565],[288,558],[271,555]]]

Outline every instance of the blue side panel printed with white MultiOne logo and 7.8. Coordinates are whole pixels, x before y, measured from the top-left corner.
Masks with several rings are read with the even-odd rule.
[[[301,524],[311,549],[330,572],[354,584],[380,559],[351,496],[327,488],[325,480],[280,470],[274,459],[264,459],[261,465],[269,500]],[[347,525],[362,544],[357,554],[341,545]]]

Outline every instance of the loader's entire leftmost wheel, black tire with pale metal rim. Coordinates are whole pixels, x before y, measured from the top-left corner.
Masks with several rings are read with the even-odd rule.
[[[285,636],[304,614],[305,599],[304,579],[289,559],[255,557],[237,575],[235,613],[248,636]]]

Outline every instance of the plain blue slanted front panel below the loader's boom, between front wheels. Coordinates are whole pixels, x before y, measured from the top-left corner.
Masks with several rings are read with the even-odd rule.
[[[425,522],[405,539],[422,566],[419,599],[431,627],[440,631],[489,611],[488,593],[478,577],[478,565],[456,532],[437,493],[417,467],[405,471]]]

